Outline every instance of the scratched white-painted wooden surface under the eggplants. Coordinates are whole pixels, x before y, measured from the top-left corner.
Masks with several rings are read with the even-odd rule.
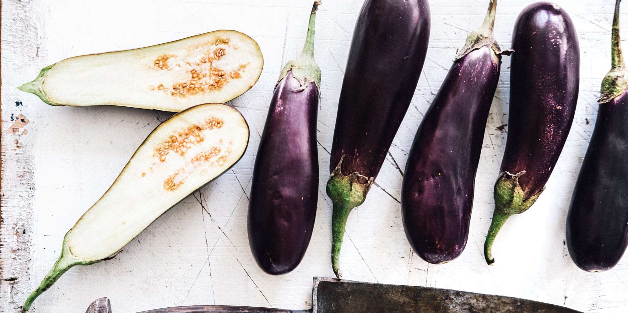
[[[170,116],[125,107],[52,107],[16,87],[63,58],[144,47],[217,29],[251,35],[264,53],[257,85],[230,102],[251,126],[246,156],[160,217],[114,260],[72,268],[31,312],[83,312],[104,296],[116,313],[192,304],[310,306],[311,277],[333,275],[331,209],[324,195],[327,151],[362,0],[326,0],[318,13],[316,58],[323,81],[317,221],[301,265],[279,277],[264,274],[252,259],[247,199],[273,86],[283,64],[301,51],[310,0],[3,2],[0,312],[18,312],[57,259],[65,232],[109,187],[146,135]],[[394,165],[403,171],[421,117],[456,49],[468,31],[480,25],[487,2],[431,1],[430,49],[412,106],[377,178],[379,187],[349,217],[342,251],[345,278],[510,295],[590,312],[628,312],[628,259],[609,272],[585,273],[573,265],[564,243],[571,190],[595,123],[599,85],[610,67],[614,0],[556,0],[570,13],[580,38],[578,110],[547,190],[530,211],[512,217],[497,238],[497,263],[487,266],[481,248],[506,143],[505,129],[500,129],[507,123],[508,57],[486,128],[467,249],[457,260],[435,266],[414,255],[406,241],[398,201],[401,171]],[[531,2],[500,1],[496,36],[502,47],[510,47],[516,16]],[[623,17],[623,35],[628,38],[628,15]]]

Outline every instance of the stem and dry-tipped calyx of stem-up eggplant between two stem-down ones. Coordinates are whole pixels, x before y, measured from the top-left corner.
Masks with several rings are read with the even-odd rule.
[[[472,31],[467,36],[467,41],[465,42],[464,47],[458,51],[455,60],[459,60],[464,57],[468,53],[482,48],[484,46],[489,46],[495,55],[510,55],[512,50],[504,50],[502,51],[495,40],[495,36],[493,35],[493,28],[495,25],[495,11],[497,11],[497,0],[490,0],[489,9],[484,18],[484,23],[478,30]]]

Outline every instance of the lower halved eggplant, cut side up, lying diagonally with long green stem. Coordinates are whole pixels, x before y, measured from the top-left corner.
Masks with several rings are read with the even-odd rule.
[[[161,123],[65,234],[61,256],[23,310],[72,266],[108,260],[170,207],[229,170],[248,142],[246,120],[225,104],[190,107]]]

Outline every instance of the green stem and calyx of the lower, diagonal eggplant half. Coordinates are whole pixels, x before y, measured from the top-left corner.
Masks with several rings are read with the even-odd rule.
[[[111,258],[113,258],[114,256],[112,256]],[[106,258],[104,260],[109,260],[111,258]],[[44,277],[43,280],[41,280],[39,287],[37,287],[35,291],[33,291],[28,296],[28,298],[26,298],[26,300],[24,301],[24,305],[22,305],[22,311],[28,312],[28,310],[31,308],[31,305],[33,304],[33,301],[35,301],[37,297],[39,297],[46,290],[48,290],[48,288],[52,287],[52,285],[54,285],[54,283],[57,282],[59,278],[61,278],[63,273],[67,272],[73,266],[91,265],[91,264],[98,263],[104,260],[85,261],[72,255],[72,251],[70,251],[70,246],[68,245],[67,234],[66,234],[66,238],[63,239],[63,248],[61,251],[61,256],[59,256],[55,265],[52,266],[52,268],[50,269],[50,272],[46,274],[46,277]]]

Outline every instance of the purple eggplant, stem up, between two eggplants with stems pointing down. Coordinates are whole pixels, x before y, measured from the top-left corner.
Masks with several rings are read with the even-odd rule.
[[[423,260],[457,258],[467,244],[475,172],[501,49],[493,36],[497,0],[470,33],[419,126],[406,163],[401,208],[406,236]]]

